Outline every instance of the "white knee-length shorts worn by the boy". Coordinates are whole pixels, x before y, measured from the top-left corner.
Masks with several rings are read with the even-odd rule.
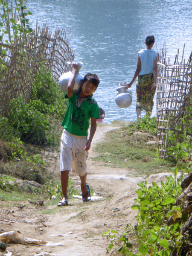
[[[86,136],[76,136],[63,131],[61,136],[60,172],[72,171],[84,176],[87,173],[86,158],[88,151],[84,150]]]

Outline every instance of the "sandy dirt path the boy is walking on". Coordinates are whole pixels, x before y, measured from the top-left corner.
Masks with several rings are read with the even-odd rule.
[[[105,140],[105,133],[116,128],[104,124],[98,126],[90,156],[96,155],[94,145],[97,141]],[[59,179],[59,154],[49,154],[47,168]],[[64,244],[34,246],[9,243],[7,250],[12,255],[104,256],[109,241],[106,236],[102,237],[102,233],[107,229],[121,233],[126,224],[135,223],[136,211],[131,206],[137,197],[137,183],[145,177],[134,177],[128,169],[100,166],[90,158],[87,160],[87,171],[87,183],[93,187],[96,196],[102,197],[99,200],[83,203],[79,198],[71,198],[68,207],[8,202],[0,208],[0,233],[19,230],[24,237]],[[72,179],[80,187],[79,176],[72,175]],[[42,214],[43,210],[55,211],[50,215]],[[6,252],[0,251],[0,255],[6,255]]]

